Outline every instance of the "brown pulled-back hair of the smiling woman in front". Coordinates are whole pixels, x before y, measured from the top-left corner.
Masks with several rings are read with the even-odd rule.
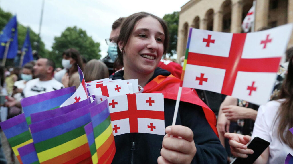
[[[134,26],[135,26],[136,22],[141,20],[142,18],[145,18],[145,17],[148,17],[148,16],[151,16],[151,17],[155,18],[156,20],[158,20],[160,22],[160,24],[162,25],[162,27],[163,27],[164,34],[165,34],[165,40],[164,40],[164,43],[163,43],[163,45],[164,45],[163,54],[166,54],[166,51],[167,51],[167,48],[168,48],[168,43],[169,43],[169,31],[168,31],[168,27],[167,27],[166,22],[163,19],[161,19],[161,18],[159,18],[159,17],[157,17],[155,15],[152,15],[150,13],[139,12],[139,13],[134,13],[134,14],[128,16],[122,22],[120,34],[119,34],[118,39],[117,39],[117,45],[119,45],[119,42],[122,41],[123,46],[122,46],[121,50],[119,49],[119,46],[117,46],[118,57],[115,60],[115,64],[119,63],[119,64],[123,65],[124,48],[125,48],[125,46],[127,44],[127,41],[128,41],[128,39],[129,39],[133,29],[134,29]],[[117,64],[117,65],[119,65],[119,64]]]

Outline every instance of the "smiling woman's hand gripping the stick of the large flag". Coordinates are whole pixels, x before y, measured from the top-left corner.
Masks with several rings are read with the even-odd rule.
[[[196,153],[192,130],[186,126],[175,125],[168,126],[165,132],[167,134],[163,139],[158,163],[191,163]]]

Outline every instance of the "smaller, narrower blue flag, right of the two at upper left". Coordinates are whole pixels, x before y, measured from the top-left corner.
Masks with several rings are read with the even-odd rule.
[[[22,51],[22,54],[24,53],[22,66],[34,60],[33,54],[32,54],[32,46],[30,45],[30,29],[29,28],[27,29],[25,40],[24,40],[21,51]]]

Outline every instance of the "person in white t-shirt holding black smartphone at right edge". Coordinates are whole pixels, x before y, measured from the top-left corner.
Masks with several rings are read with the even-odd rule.
[[[293,154],[293,57],[289,60],[288,74],[282,84],[278,100],[261,105],[255,120],[252,137],[258,136],[270,142],[270,146],[255,160],[256,164],[284,163],[288,153]],[[231,153],[240,158],[247,158],[253,150],[247,149],[250,136],[225,133],[229,138]]]

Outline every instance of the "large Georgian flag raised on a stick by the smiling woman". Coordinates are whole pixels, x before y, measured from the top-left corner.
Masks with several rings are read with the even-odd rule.
[[[190,29],[182,86],[265,104],[291,32],[292,24],[241,34]]]

